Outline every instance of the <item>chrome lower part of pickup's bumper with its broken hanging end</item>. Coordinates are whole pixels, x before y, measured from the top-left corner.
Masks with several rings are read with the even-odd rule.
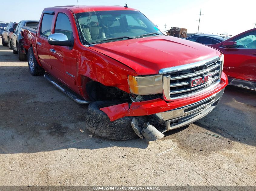
[[[151,115],[157,119],[160,124],[165,125],[165,129],[158,130],[150,123],[139,127],[135,118],[131,121],[131,126],[140,138],[146,141],[158,140],[165,136],[163,132],[189,125],[206,116],[216,107],[223,93],[224,89],[217,94],[191,105]]]

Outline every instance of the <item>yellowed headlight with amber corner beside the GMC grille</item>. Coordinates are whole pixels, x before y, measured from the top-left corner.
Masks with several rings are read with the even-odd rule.
[[[136,95],[160,94],[163,92],[162,75],[128,76],[130,92]]]

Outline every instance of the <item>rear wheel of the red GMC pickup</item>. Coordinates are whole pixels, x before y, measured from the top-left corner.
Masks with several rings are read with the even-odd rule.
[[[40,76],[45,73],[45,70],[36,61],[32,47],[28,49],[28,68],[32,76]]]

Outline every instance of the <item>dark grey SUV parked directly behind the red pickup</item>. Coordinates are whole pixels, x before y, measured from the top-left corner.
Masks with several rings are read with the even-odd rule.
[[[24,20],[18,23],[15,29],[15,32],[14,32],[14,29],[11,29],[11,28],[9,29],[9,31],[13,32],[12,39],[10,41],[10,44],[12,45],[12,52],[14,54],[18,54],[19,60],[27,59],[25,51],[23,49],[23,36],[22,36],[21,27],[27,26],[37,30],[38,22],[39,21]]]

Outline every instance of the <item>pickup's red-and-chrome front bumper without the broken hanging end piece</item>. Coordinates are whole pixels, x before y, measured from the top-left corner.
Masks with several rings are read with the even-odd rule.
[[[210,91],[208,90],[194,97],[172,102],[165,102],[164,100],[158,98],[149,101],[133,102],[130,105],[128,103],[122,103],[110,107],[104,107],[100,110],[108,115],[110,121],[114,121],[125,116],[152,115],[154,117],[159,116],[160,119],[162,116],[162,121],[167,123],[167,129],[170,130],[192,123],[209,113],[217,105],[224,92],[224,88],[227,85],[228,78],[222,72],[221,81],[217,86]],[[192,109],[189,110],[189,108]],[[187,114],[189,115],[184,113],[185,111],[188,111]],[[165,118],[163,116],[165,116]],[[180,123],[178,125],[176,124],[177,126],[175,126],[174,122],[176,123],[177,120],[179,120]],[[161,120],[159,121],[161,122]],[[168,124],[170,124],[169,127]]]

